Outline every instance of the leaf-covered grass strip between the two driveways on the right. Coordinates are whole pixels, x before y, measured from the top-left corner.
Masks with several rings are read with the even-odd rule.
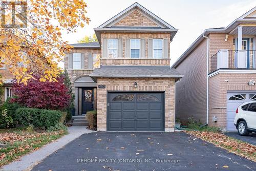
[[[187,131],[191,136],[198,137],[228,152],[245,157],[256,162],[256,146],[224,135],[221,132]],[[193,138],[192,137],[192,138]]]

